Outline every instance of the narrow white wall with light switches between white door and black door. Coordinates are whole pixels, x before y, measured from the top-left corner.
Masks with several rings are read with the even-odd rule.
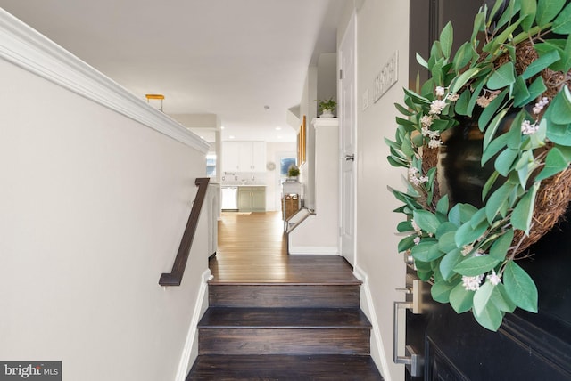
[[[393,103],[402,101],[402,87],[408,85],[409,2],[365,0],[355,4],[358,73],[355,268],[367,280],[369,301],[373,304],[368,307],[377,317],[377,338],[381,340],[377,365],[386,380],[401,380],[404,369],[393,364],[393,301],[404,297],[395,288],[404,287],[405,264],[397,253],[399,238],[394,234],[401,217],[392,212],[400,205],[386,188],[401,186],[401,171],[386,161],[389,150],[383,138],[393,139],[397,115]],[[373,95],[374,79],[395,51],[399,60],[397,84],[377,103],[370,100],[370,107],[363,111],[361,95],[367,89]]]

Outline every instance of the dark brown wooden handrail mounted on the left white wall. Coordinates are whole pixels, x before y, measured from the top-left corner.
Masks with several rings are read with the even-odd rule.
[[[182,276],[185,273],[186,261],[188,260],[188,255],[190,255],[190,247],[193,246],[194,233],[198,226],[198,217],[203,207],[209,181],[210,179],[208,177],[197,178],[194,181],[194,184],[198,186],[198,191],[194,198],[193,208],[190,211],[188,223],[186,223],[185,233],[180,240],[180,246],[178,247],[177,257],[175,258],[175,263],[172,265],[172,270],[161,274],[161,279],[159,280],[161,286],[180,286]]]

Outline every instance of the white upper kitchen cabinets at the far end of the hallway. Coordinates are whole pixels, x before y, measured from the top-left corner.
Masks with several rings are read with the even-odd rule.
[[[224,142],[222,161],[224,172],[264,172],[266,142]]]

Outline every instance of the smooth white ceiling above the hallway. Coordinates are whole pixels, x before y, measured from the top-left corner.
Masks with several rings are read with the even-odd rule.
[[[165,113],[218,115],[222,140],[294,142],[286,110],[299,104],[308,66],[319,53],[335,52],[343,0],[0,0],[0,6],[142,100],[164,94]]]

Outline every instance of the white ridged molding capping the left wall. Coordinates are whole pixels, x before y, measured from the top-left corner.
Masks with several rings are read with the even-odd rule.
[[[0,57],[206,153],[210,144],[0,8]]]

